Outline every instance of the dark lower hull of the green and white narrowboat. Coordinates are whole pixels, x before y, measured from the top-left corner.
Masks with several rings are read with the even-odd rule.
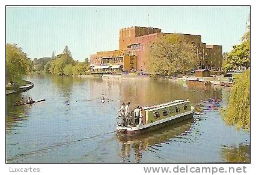
[[[157,125],[148,126],[146,128],[142,128],[142,129],[135,129],[133,131],[129,131],[129,129],[121,128],[121,129],[117,129],[117,134],[129,135],[129,136],[143,134],[145,132],[155,131],[155,130],[163,128],[165,126],[169,126],[174,123],[181,122],[183,120],[191,119],[193,117],[193,115],[194,115],[194,112],[186,114],[184,116],[177,117],[175,119],[168,120],[166,122],[159,123]]]

